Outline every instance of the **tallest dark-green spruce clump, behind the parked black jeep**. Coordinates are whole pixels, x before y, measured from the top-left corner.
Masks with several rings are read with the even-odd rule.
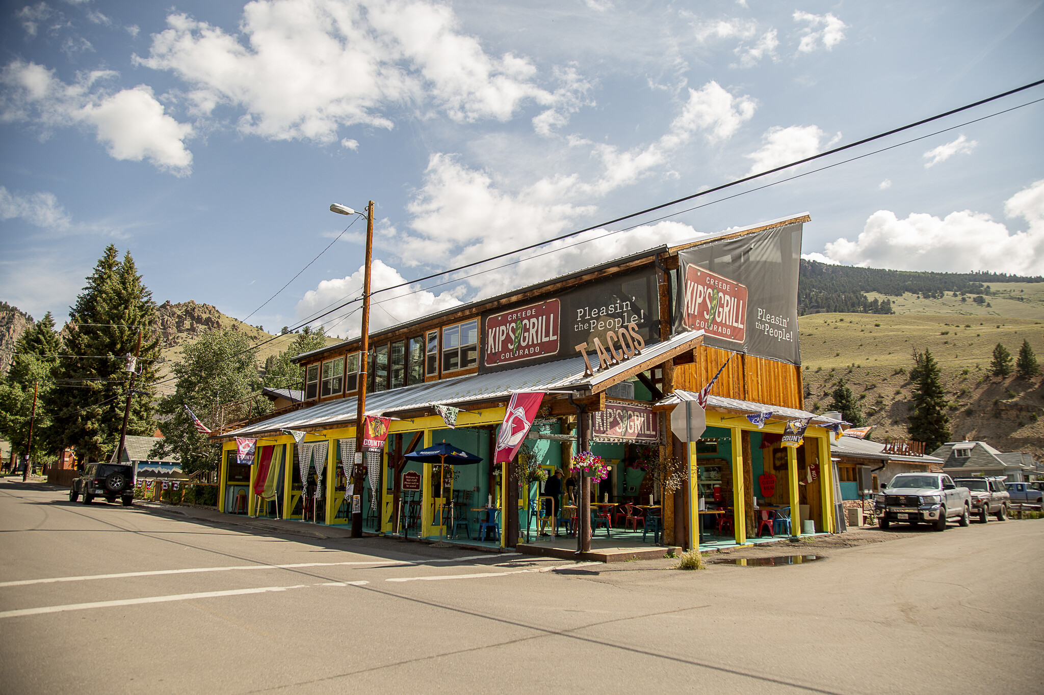
[[[119,441],[129,388],[125,355],[134,354],[142,333],[127,433],[148,436],[156,430],[151,384],[160,356],[156,302],[142,283],[129,251],[120,260],[112,244],[87,278],[87,287],[69,312],[65,349],[75,357],[58,361],[56,383],[47,406],[53,419],[52,438],[72,446],[78,456],[109,457]]]

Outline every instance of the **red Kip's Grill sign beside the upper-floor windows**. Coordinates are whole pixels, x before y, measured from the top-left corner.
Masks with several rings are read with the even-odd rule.
[[[559,352],[557,299],[529,304],[485,319],[485,366],[533,359]]]

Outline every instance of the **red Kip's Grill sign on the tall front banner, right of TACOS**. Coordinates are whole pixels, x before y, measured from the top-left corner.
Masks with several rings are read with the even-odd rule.
[[[699,266],[685,271],[685,325],[742,343],[746,336],[746,287]]]

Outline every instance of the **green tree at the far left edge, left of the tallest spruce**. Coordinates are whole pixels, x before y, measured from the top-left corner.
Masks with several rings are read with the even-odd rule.
[[[22,454],[28,445],[33,392],[39,389],[32,424],[32,451],[29,452],[34,462],[48,460],[48,454],[54,450],[48,437],[50,417],[43,401],[54,388],[51,370],[58,362],[56,355],[61,349],[62,340],[48,312],[19,338],[10,369],[0,379],[0,436]]]

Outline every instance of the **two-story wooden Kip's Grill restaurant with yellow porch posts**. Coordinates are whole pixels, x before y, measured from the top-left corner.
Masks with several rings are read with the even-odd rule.
[[[800,215],[648,249],[426,316],[372,333],[365,355],[359,339],[299,355],[303,405],[214,435],[226,443],[222,495],[252,482],[258,467],[236,464],[235,438],[256,439],[258,458],[278,471],[269,476],[267,501],[251,496],[251,514],[350,523],[345,497],[364,358],[366,414],[392,418],[383,453],[366,461],[362,505],[374,531],[449,533],[454,529],[440,510],[452,496],[466,515],[487,503],[498,506],[505,521],[499,542],[514,546],[515,538],[503,532],[517,527],[507,522],[506,500],[514,499],[506,494],[507,471],[489,462],[512,394],[537,391],[545,395],[524,455],[568,477],[580,445],[577,424],[590,418],[591,450],[612,465],[592,497],[647,501],[652,495],[666,544],[688,545],[691,532],[707,527],[697,499],[706,502],[708,493],[736,520],[730,542],[754,535],[755,500],[761,507],[791,505],[793,533],[805,528],[802,521],[832,531],[834,480],[823,426],[836,421],[805,412],[802,391],[797,290],[808,220]],[[669,428],[675,391],[698,392],[719,372],[702,441],[683,444]],[[459,408],[454,428],[436,405]],[[761,426],[746,417],[759,414]],[[647,424],[613,427],[635,418]],[[784,447],[784,427],[794,421],[808,425],[804,440]],[[304,448],[284,430],[307,431]],[[483,461],[441,470],[403,458],[440,441]],[[650,450],[685,462],[682,489],[650,487],[651,476],[643,479],[631,465]],[[301,452],[309,461],[300,460]],[[410,472],[420,474],[419,491],[403,490]],[[707,487],[712,475],[714,492]],[[520,508],[525,526],[528,502]],[[413,529],[403,529],[400,520],[411,518]],[[474,537],[478,529],[459,530]]]

